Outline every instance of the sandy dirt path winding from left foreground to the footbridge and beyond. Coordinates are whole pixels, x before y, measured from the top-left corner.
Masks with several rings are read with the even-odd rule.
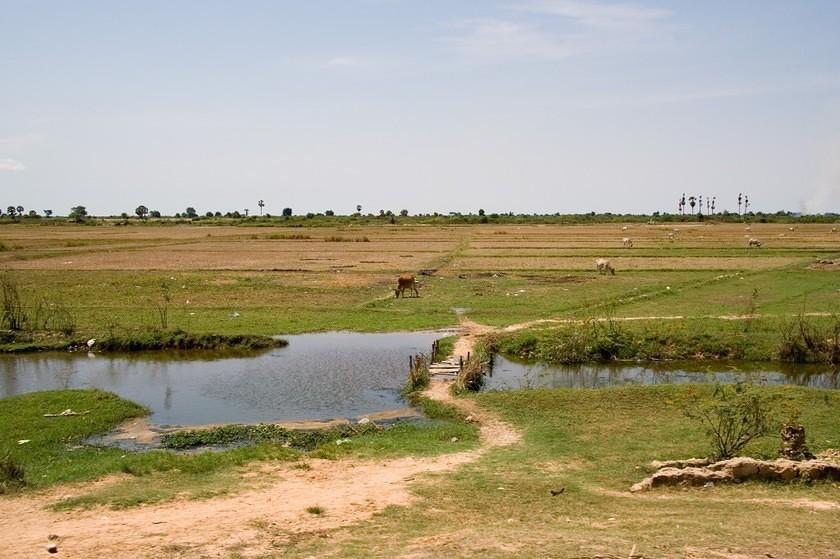
[[[489,329],[466,323],[457,354],[472,351]],[[461,353],[462,352],[462,353]],[[435,458],[393,460],[310,460],[310,469],[287,463],[261,464],[249,475],[259,487],[205,501],[175,501],[128,510],[96,508],[51,512],[57,500],[89,492],[94,484],[0,499],[0,557],[43,557],[57,543],[59,557],[224,557],[236,551],[250,557],[271,551],[289,534],[334,529],[369,518],[388,505],[410,504],[412,482],[449,472],[491,448],[513,444],[521,435],[471,400],[455,399],[450,382],[435,381],[431,398],[449,402],[480,428],[477,449]],[[455,447],[457,442],[453,443]],[[457,447],[455,447],[457,448]],[[326,512],[306,512],[318,506]],[[48,538],[57,536],[52,542]]]

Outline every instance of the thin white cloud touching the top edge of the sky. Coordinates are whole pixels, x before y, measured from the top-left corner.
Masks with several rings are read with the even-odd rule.
[[[603,29],[643,29],[672,15],[669,10],[636,4],[605,4],[578,0],[533,0],[517,5],[515,9],[565,17],[581,25]]]

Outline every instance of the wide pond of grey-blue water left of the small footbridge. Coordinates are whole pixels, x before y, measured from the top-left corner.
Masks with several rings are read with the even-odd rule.
[[[441,332],[284,336],[258,355],[212,352],[0,356],[0,398],[95,387],[152,410],[159,425],[353,418],[405,407],[408,357]],[[50,410],[61,411],[61,410]]]

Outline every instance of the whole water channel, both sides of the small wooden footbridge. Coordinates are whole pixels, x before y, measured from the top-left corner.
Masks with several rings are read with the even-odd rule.
[[[145,352],[0,356],[0,398],[95,387],[145,405],[161,426],[359,418],[404,409],[409,356],[453,331],[284,336],[259,354]],[[548,366],[494,358],[484,390],[738,382],[840,388],[830,367],[725,362]],[[58,410],[61,411],[61,410]]]

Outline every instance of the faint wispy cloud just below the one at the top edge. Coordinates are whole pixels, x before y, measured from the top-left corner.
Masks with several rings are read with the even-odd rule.
[[[477,58],[560,60],[573,54],[564,41],[521,23],[468,19],[449,27],[461,35],[446,40],[463,54]]]

